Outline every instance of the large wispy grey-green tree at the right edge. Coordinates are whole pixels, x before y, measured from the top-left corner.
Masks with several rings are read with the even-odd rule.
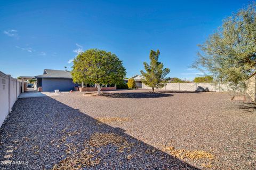
[[[255,4],[223,20],[222,26],[199,47],[194,68],[210,72],[215,81],[233,90],[244,91],[244,80],[256,67]]]

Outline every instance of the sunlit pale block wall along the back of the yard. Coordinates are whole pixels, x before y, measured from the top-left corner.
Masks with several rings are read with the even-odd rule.
[[[147,85],[142,83],[142,88],[151,89]],[[212,83],[166,83],[161,90],[173,90],[173,91],[196,91],[198,88],[203,88],[206,91],[212,92],[225,92],[228,90],[224,84],[214,85]]]

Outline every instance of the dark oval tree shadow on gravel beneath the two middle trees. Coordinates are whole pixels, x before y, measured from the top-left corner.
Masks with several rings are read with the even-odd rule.
[[[127,92],[127,93],[103,93],[103,96],[107,98],[164,98],[173,96],[173,94],[164,94],[164,93],[153,93],[153,92]]]

